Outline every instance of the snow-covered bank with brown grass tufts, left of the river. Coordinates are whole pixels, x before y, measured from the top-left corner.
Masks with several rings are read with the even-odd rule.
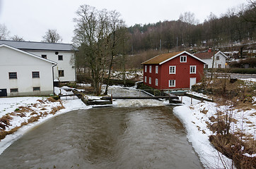
[[[43,114],[37,121],[33,123],[28,123],[28,125],[23,125],[13,134],[8,134],[4,139],[1,139],[0,142],[0,154],[8,148],[13,142],[19,139],[25,132],[31,130],[35,125],[39,125],[45,120],[48,120],[54,116],[60,115],[62,113],[66,113],[69,111],[77,110],[77,109],[86,109],[91,108],[91,106],[86,106],[80,99],[76,100],[65,100],[61,102],[64,106],[63,109],[57,111],[56,113],[45,113],[52,111],[56,106],[60,106],[60,102],[51,102],[47,101],[46,98],[43,97],[13,97],[13,98],[0,98],[0,118],[8,113],[13,113],[15,110],[21,106],[29,107],[32,111],[23,112],[23,117],[21,116],[12,116],[13,119],[10,120],[10,126],[6,127],[5,131],[11,130],[16,126],[21,126],[21,123],[27,123],[28,120],[35,116],[36,114]]]

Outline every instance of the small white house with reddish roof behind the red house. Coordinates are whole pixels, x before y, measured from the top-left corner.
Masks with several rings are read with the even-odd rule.
[[[206,63],[204,65],[204,68],[212,68],[213,59],[214,59],[214,68],[226,68],[227,56],[223,54],[223,52],[221,51],[214,52],[214,51],[211,51],[211,49],[209,49],[206,52],[194,54],[194,56],[201,58],[202,61]]]

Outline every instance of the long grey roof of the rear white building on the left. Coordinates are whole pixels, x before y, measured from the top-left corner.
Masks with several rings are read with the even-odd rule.
[[[23,42],[23,41],[6,41],[0,40],[0,45],[6,44],[21,50],[33,51],[78,51],[72,44],[54,44],[46,42]]]

